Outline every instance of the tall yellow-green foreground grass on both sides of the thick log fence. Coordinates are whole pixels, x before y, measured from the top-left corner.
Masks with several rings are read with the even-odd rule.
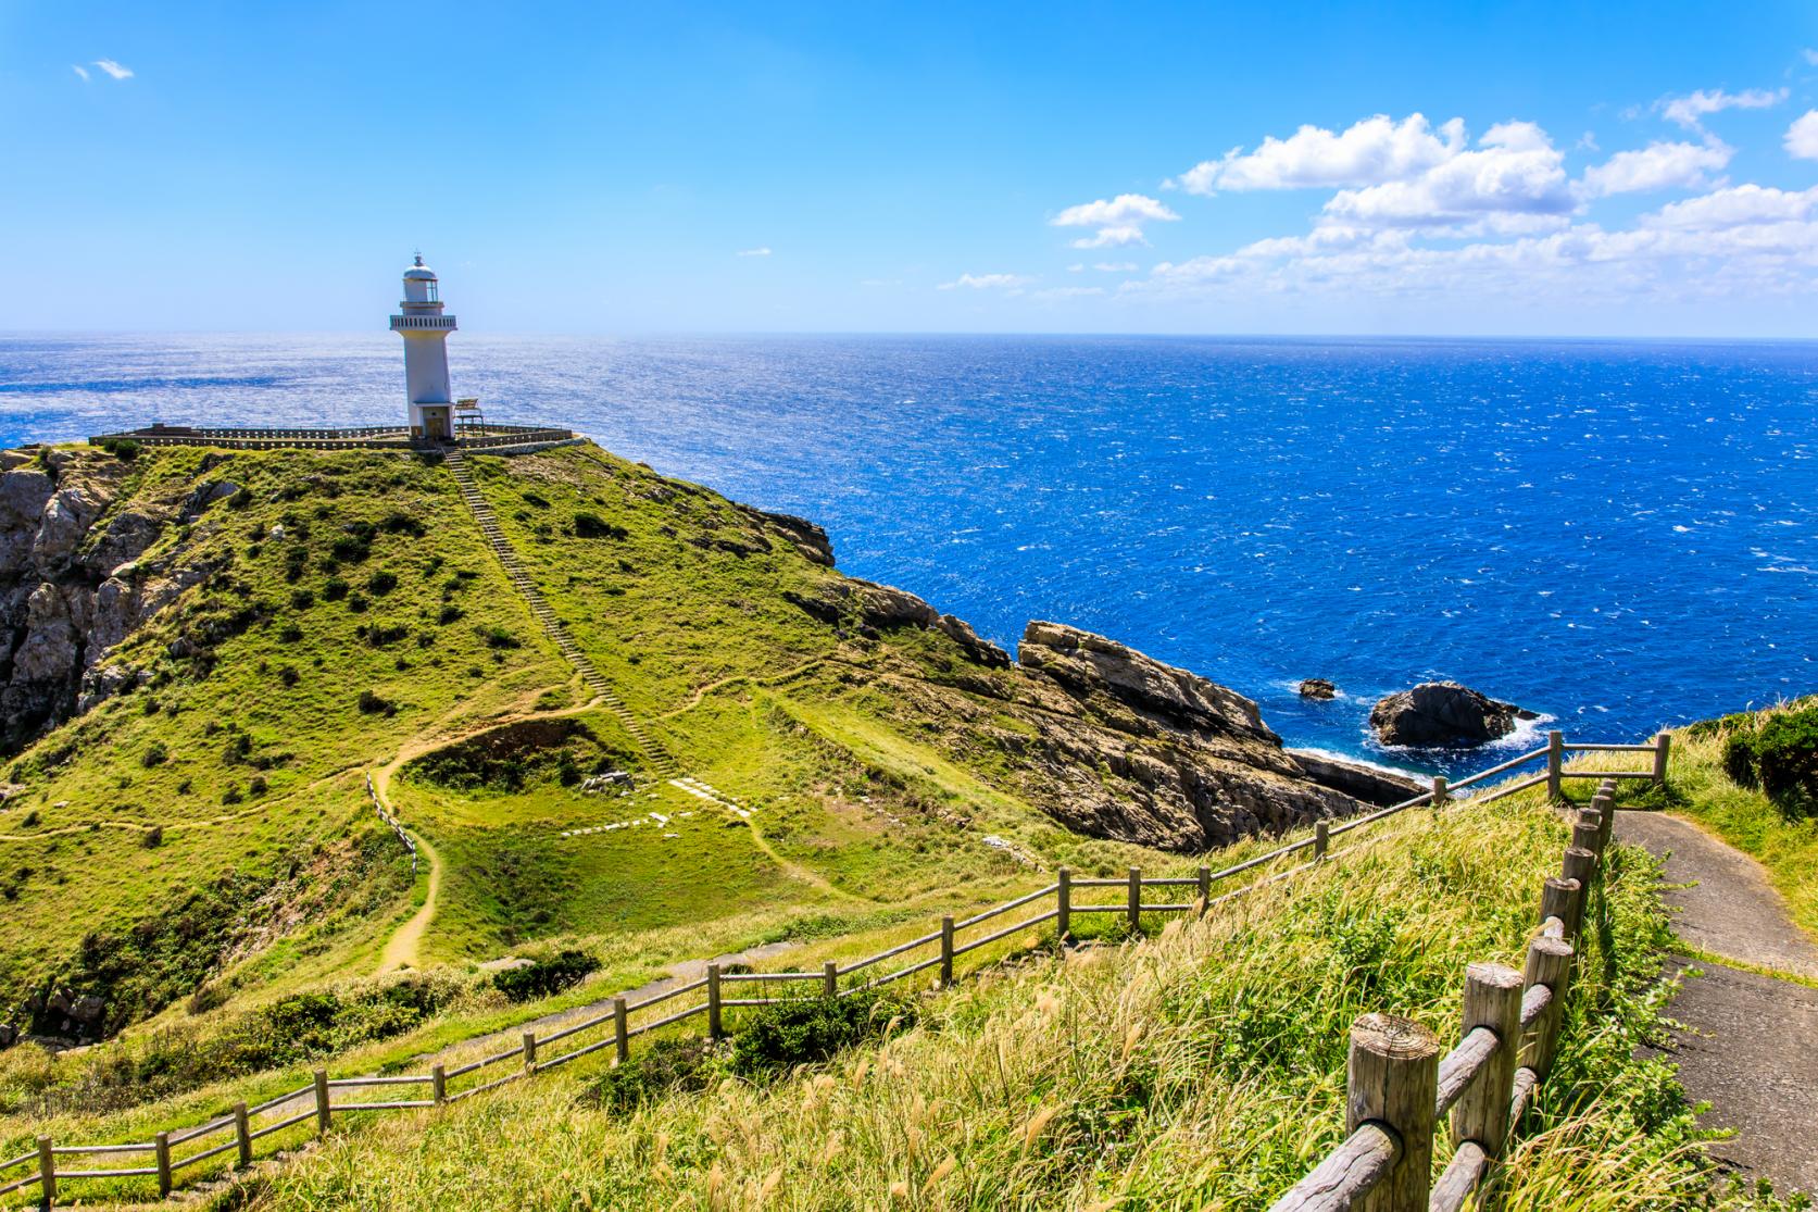
[[[778,1081],[607,1110],[582,1065],[336,1136],[220,1207],[1260,1208],[1342,1137],[1358,1014],[1453,1039],[1465,965],[1520,961],[1565,839],[1525,799],[1402,817],[1149,941],[1031,950]],[[1656,868],[1623,850],[1613,870],[1509,1208],[1707,1207],[1689,1108],[1633,1054],[1658,1030]]]

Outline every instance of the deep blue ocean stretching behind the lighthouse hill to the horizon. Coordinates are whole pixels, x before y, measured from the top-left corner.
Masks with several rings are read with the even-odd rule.
[[[462,333],[449,351],[494,420],[813,517],[845,571],[1000,644],[1027,619],[1122,639],[1258,699],[1296,746],[1483,764],[1373,748],[1371,702],[1434,677],[1585,739],[1818,690],[1818,344]],[[0,444],[380,424],[402,380],[389,333],[0,337]],[[1302,702],[1304,677],[1342,697]]]

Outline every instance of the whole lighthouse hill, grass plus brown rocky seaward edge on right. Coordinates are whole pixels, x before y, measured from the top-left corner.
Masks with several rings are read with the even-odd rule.
[[[1358,808],[1231,692],[1064,628],[1018,666],[842,577],[813,524],[593,446],[469,464],[624,710],[591,699],[438,460],[124,455],[7,455],[0,480],[25,519],[0,511],[18,650],[56,633],[22,602],[69,602],[69,651],[84,626],[104,646],[109,610],[124,631],[56,675],[67,693],[38,684],[62,722],[4,768],[0,1021],[31,1030],[182,1025],[373,972],[425,903],[415,968],[584,944],[629,979]],[[47,561],[56,517],[85,530]],[[653,777],[627,713],[698,783]],[[431,859],[415,879],[369,775]],[[82,997],[100,1023],[67,1017]]]

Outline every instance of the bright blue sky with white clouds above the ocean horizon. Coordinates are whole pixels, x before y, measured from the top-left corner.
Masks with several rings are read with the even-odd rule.
[[[0,0],[0,329],[1818,328],[1813,4],[665,7]]]

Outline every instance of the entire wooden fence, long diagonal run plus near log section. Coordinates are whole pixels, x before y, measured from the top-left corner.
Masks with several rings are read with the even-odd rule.
[[[1565,753],[1574,752],[1651,753],[1653,763],[1651,770],[1614,773],[1563,770]],[[685,981],[636,1003],[614,997],[604,1014],[562,1026],[547,1035],[525,1030],[511,1046],[465,1065],[435,1065],[427,1074],[338,1079],[331,1079],[327,1070],[318,1068],[313,1081],[305,1086],[280,1094],[256,1106],[236,1103],[207,1123],[176,1132],[158,1132],[147,1143],[56,1145],[47,1136],[38,1137],[35,1152],[0,1161],[0,1196],[38,1187],[40,1201],[49,1207],[56,1199],[58,1183],[136,1176],[155,1176],[158,1192],[169,1194],[178,1172],[189,1167],[224,1154],[233,1154],[236,1165],[247,1165],[253,1159],[253,1145],[256,1141],[305,1123],[315,1123],[318,1134],[327,1132],[336,1114],[442,1106],[444,1103],[456,1103],[485,1090],[560,1068],[607,1048],[611,1048],[614,1063],[624,1063],[631,1057],[633,1039],[696,1017],[704,1019],[709,1039],[720,1039],[725,1035],[727,1010],[774,1006],[804,997],[844,997],[927,970],[938,970],[940,983],[947,985],[954,979],[956,961],[962,955],[1047,923],[1054,923],[1058,939],[1067,939],[1073,932],[1073,919],[1082,914],[1122,915],[1131,932],[1140,928],[1144,914],[1205,914],[1211,906],[1289,879],[1336,857],[1331,843],[1344,833],[1409,808],[1423,804],[1442,806],[1463,788],[1482,784],[1540,759],[1545,759],[1542,773],[1498,786],[1489,795],[1474,799],[1474,803],[1496,801],[1542,783],[1558,797],[1563,779],[1578,777],[1605,779],[1605,788],[1609,790],[1600,790],[1598,799],[1593,801],[1602,804],[1596,848],[1567,850],[1565,877],[1547,881],[1543,899],[1545,928],[1542,930],[1542,939],[1534,943],[1536,950],[1529,954],[1527,988],[1525,992],[1516,990],[1520,992],[1523,1032],[1520,1043],[1522,1066],[1518,1068],[1511,1063],[1511,1057],[1516,1054],[1503,1043],[1514,1039],[1505,1017],[1509,1003],[1505,986],[1511,981],[1518,983],[1520,977],[1493,965],[1473,965],[1467,972],[1465,1039],[1440,1065],[1438,1076],[1433,1081],[1427,1081],[1425,1076],[1433,1068],[1433,1057],[1438,1055],[1438,1045],[1431,1041],[1431,1032],[1403,1019],[1365,1015],[1353,1032],[1351,1048],[1354,1132],[1333,1157],[1276,1205],[1284,1210],[1349,1208],[1353,1207],[1353,1199],[1358,1199],[1356,1207],[1371,1208],[1371,1212],[1400,1212],[1400,1208],[1413,1208],[1414,1205],[1362,1201],[1362,1197],[1383,1185],[1389,1176],[1394,1176],[1394,1190],[1402,1190],[1403,1185],[1411,1190],[1416,1179],[1407,1177],[1411,1174],[1409,1167],[1420,1170],[1420,1185],[1427,1181],[1427,1156],[1433,1146],[1434,1116],[1453,1108],[1454,1103],[1469,1108],[1460,1114],[1476,1116],[1476,1119],[1463,1121],[1454,1116],[1454,1125],[1463,1123],[1469,1126],[1469,1130],[1458,1130],[1460,1139],[1467,1143],[1460,1148],[1460,1157],[1465,1161],[1453,1163],[1453,1170],[1458,1170],[1458,1176],[1447,1170],[1447,1181],[1453,1187],[1463,1181],[1462,1176],[1465,1170],[1471,1170],[1469,1177],[1474,1183],[1482,1177],[1489,1159],[1494,1159],[1496,1152],[1500,1152],[1507,1125],[1520,1119],[1520,1112],[1525,1108],[1534,1083],[1545,1076],[1545,1065],[1553,1054],[1553,1039],[1551,1035],[1543,1035],[1543,1032],[1558,1030],[1558,1006],[1563,997],[1565,972],[1571,963],[1569,939],[1576,935],[1582,890],[1589,884],[1596,855],[1602,853],[1603,843],[1609,839],[1609,823],[1614,815],[1609,812],[1609,795],[1614,790],[1616,779],[1649,779],[1654,783],[1665,779],[1665,733],[1658,735],[1653,744],[1567,744],[1558,732],[1553,732],[1547,735],[1543,748],[1453,784],[1447,784],[1443,777],[1434,777],[1433,790],[1340,824],[1318,821],[1311,837],[1278,846],[1222,870],[1202,866],[1193,875],[1147,879],[1140,868],[1133,866],[1125,875],[1116,879],[1076,879],[1071,870],[1060,868],[1054,883],[1045,888],[1036,888],[971,917],[942,917],[934,930],[907,943],[898,943],[876,955],[854,959],[845,965],[829,959],[822,965],[820,972],[731,972],[722,965],[707,965],[707,972],[700,979]],[[1583,823],[1580,823],[1574,830],[1574,843],[1580,846],[1589,843],[1583,828]],[[1225,881],[1302,853],[1309,857],[1294,866],[1214,895],[1216,886]],[[1122,895],[1109,901],[1104,899],[1113,890]],[[1145,892],[1154,892],[1162,899],[1145,901]],[[1034,912],[1004,924],[1002,919],[1027,908]],[[891,965],[891,961],[898,966],[880,975],[876,970]],[[587,1037],[587,1043],[582,1043],[584,1037]],[[1533,1041],[1533,1046],[1529,1041]],[[565,1050],[551,1055],[554,1045],[564,1045]],[[1527,1077],[1522,1077],[1523,1072]],[[1427,1085],[1420,1085],[1423,1081]],[[1436,1086],[1433,1085],[1434,1081],[1438,1083]],[[1513,1083],[1513,1096],[1503,1092],[1509,1083]],[[1418,1090],[1427,1090],[1423,1097],[1429,1101],[1436,1097],[1436,1110],[1427,1114],[1425,1119],[1416,1114],[1418,1108],[1413,1103],[1407,1103],[1407,1099],[1414,1097],[1409,1090],[1416,1090],[1416,1086]],[[1438,1090],[1436,1096],[1433,1094],[1434,1088]],[[387,1097],[404,1090],[416,1092],[418,1096]],[[1511,1103],[1513,1099],[1502,1119],[1493,1114],[1494,1108],[1487,1108],[1487,1092],[1496,1092],[1496,1099],[1503,1103]],[[1383,1101],[1389,1094],[1394,1096],[1393,1101]],[[1423,1137],[1422,1132],[1425,1132]],[[211,1137],[222,1139],[220,1143],[200,1146]],[[1422,1145],[1422,1141],[1425,1143]],[[200,1148],[178,1156],[176,1150],[180,1146]],[[1425,1154],[1420,1154],[1422,1148],[1425,1148]],[[1414,1167],[1416,1154],[1420,1154],[1418,1167]],[[75,1157],[125,1159],[138,1165],[64,1168]],[[1473,1157],[1476,1161],[1471,1161]],[[147,1159],[151,1165],[144,1165]],[[9,1170],[18,1172],[27,1168],[29,1172],[22,1177],[5,1179]],[[1449,1187],[1443,1188],[1449,1190]],[[1389,1188],[1385,1187],[1383,1190]],[[1469,1190],[1469,1185],[1465,1190]],[[1422,1196],[1420,1207],[1425,1208],[1425,1196]],[[1440,1207],[1438,1203],[1434,1205],[1434,1208]],[[1451,1203],[1443,1207],[1456,1208],[1460,1205]]]

